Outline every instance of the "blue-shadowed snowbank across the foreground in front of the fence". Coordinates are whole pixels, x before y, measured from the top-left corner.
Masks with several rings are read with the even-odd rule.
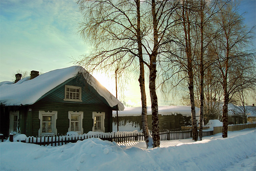
[[[59,147],[3,142],[0,170],[255,170],[255,128],[228,132],[228,136],[165,141],[162,147],[148,150],[136,147],[140,143],[129,147],[99,139]]]

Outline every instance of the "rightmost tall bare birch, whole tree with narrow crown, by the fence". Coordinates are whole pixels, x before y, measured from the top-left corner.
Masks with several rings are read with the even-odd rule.
[[[220,3],[221,6],[224,2]],[[221,28],[218,39],[213,44],[215,51],[216,79],[223,87],[223,132],[228,136],[228,103],[241,86],[255,84],[255,53],[248,50],[252,44],[252,29],[243,24],[243,15],[239,14],[236,1],[226,3],[215,18],[215,24]]]

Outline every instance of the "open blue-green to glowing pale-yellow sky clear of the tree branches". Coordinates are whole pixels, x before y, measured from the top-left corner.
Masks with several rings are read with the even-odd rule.
[[[248,12],[245,23],[256,25],[256,1],[241,1],[240,8]],[[0,82],[13,81],[17,70],[45,73],[74,65],[73,58],[90,51],[89,43],[77,33],[81,21],[75,0],[0,0]],[[114,75],[93,76],[115,95]],[[137,79],[121,91],[124,96],[119,100],[130,106],[141,105]],[[146,92],[150,104],[148,84]],[[165,101],[158,96],[159,105],[171,103],[179,105],[180,98]]]

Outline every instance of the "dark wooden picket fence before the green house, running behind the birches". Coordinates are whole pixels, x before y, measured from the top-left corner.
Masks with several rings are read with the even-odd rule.
[[[192,129],[188,128],[179,128],[173,130],[159,130],[160,132],[160,141],[168,141],[168,140],[181,140],[192,137]],[[152,134],[152,131],[150,131]],[[203,132],[203,137],[213,135],[213,131]],[[20,142],[24,143],[32,143],[38,145],[51,145],[51,146],[59,146],[68,143],[75,143],[77,141],[83,141],[89,138],[100,138],[101,140],[107,140],[116,143],[126,143],[126,142],[134,142],[134,141],[144,141],[144,135],[142,132],[112,132],[112,133],[104,133],[101,135],[52,135],[52,136],[40,136],[40,137],[27,137],[26,140],[22,140]],[[13,142],[13,134],[10,134],[9,140]],[[17,140],[19,141],[19,140]]]

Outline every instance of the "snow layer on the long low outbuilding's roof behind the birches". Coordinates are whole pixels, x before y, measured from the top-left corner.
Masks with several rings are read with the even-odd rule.
[[[200,109],[196,108],[196,116],[200,115]],[[142,112],[142,107],[125,108],[125,111],[118,112],[118,116],[140,116]],[[147,106],[147,114],[151,115],[151,106]],[[158,106],[158,114],[161,115],[172,115],[172,114],[182,114],[184,116],[191,116],[190,106]],[[113,117],[116,116],[116,112],[113,111]]]

